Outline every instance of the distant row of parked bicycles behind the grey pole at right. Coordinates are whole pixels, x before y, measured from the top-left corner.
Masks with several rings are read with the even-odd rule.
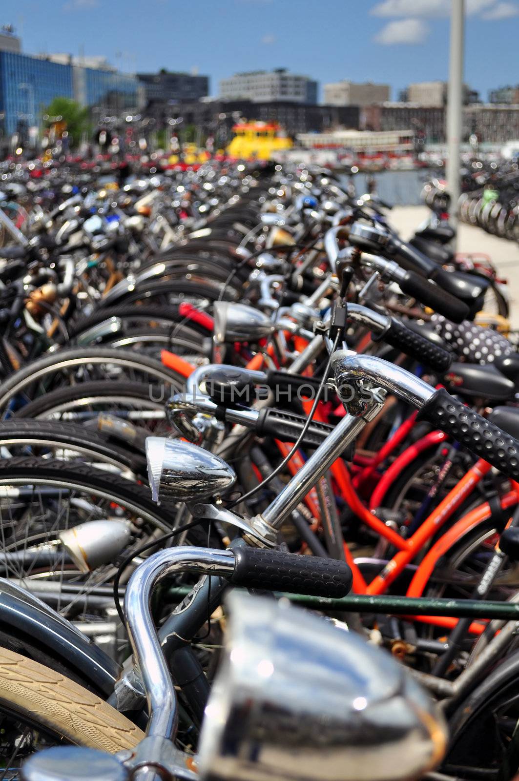
[[[458,201],[462,222],[477,225],[489,234],[519,241],[519,166],[517,160],[474,162],[463,172]],[[424,198],[434,209],[449,211],[446,182],[433,180],[424,187]]]

